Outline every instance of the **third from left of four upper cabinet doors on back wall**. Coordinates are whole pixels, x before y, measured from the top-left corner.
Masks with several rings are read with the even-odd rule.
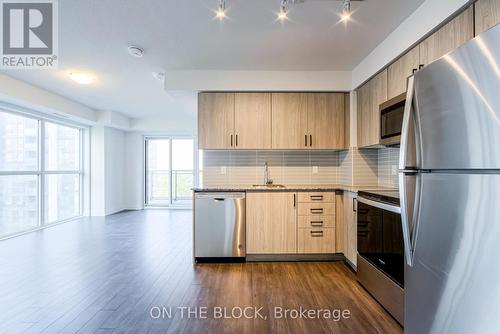
[[[272,148],[306,148],[307,94],[272,93],[271,99]]]

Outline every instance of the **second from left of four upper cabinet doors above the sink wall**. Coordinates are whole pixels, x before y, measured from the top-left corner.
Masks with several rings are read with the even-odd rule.
[[[236,149],[271,148],[271,94],[236,93],[234,102]]]

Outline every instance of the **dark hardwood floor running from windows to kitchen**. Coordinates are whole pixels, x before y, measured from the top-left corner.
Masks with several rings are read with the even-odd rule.
[[[191,230],[190,211],[130,211],[0,241],[0,333],[402,333],[341,262],[195,266]]]

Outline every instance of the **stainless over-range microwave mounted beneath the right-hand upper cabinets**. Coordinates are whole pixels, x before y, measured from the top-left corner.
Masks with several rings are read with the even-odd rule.
[[[380,105],[380,144],[399,145],[405,109],[406,93]]]

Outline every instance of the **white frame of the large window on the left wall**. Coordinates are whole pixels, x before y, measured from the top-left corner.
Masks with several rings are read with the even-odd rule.
[[[13,110],[14,109],[14,110]],[[19,175],[29,175],[37,177],[37,194],[38,194],[38,218],[37,226],[27,230],[16,231],[11,234],[0,235],[0,239],[10,238],[12,236],[24,234],[27,232],[42,229],[48,226],[54,226],[60,223],[64,223],[70,220],[81,218],[83,216],[84,210],[84,130],[85,127],[72,123],[60,121],[58,119],[53,119],[50,117],[42,117],[33,115],[29,112],[22,112],[16,110],[17,108],[10,108],[4,104],[0,104],[0,112],[12,114],[18,117],[25,117],[38,122],[38,143],[37,143],[37,169],[36,170],[19,170],[19,171],[0,171],[0,176],[19,176]],[[45,124],[51,123],[56,125],[61,125],[65,127],[70,127],[78,130],[79,138],[79,161],[77,170],[46,170],[45,166]],[[69,218],[64,218],[52,222],[45,221],[45,176],[46,175],[78,175],[78,185],[79,185],[79,203],[78,203],[78,213],[77,215]]]

